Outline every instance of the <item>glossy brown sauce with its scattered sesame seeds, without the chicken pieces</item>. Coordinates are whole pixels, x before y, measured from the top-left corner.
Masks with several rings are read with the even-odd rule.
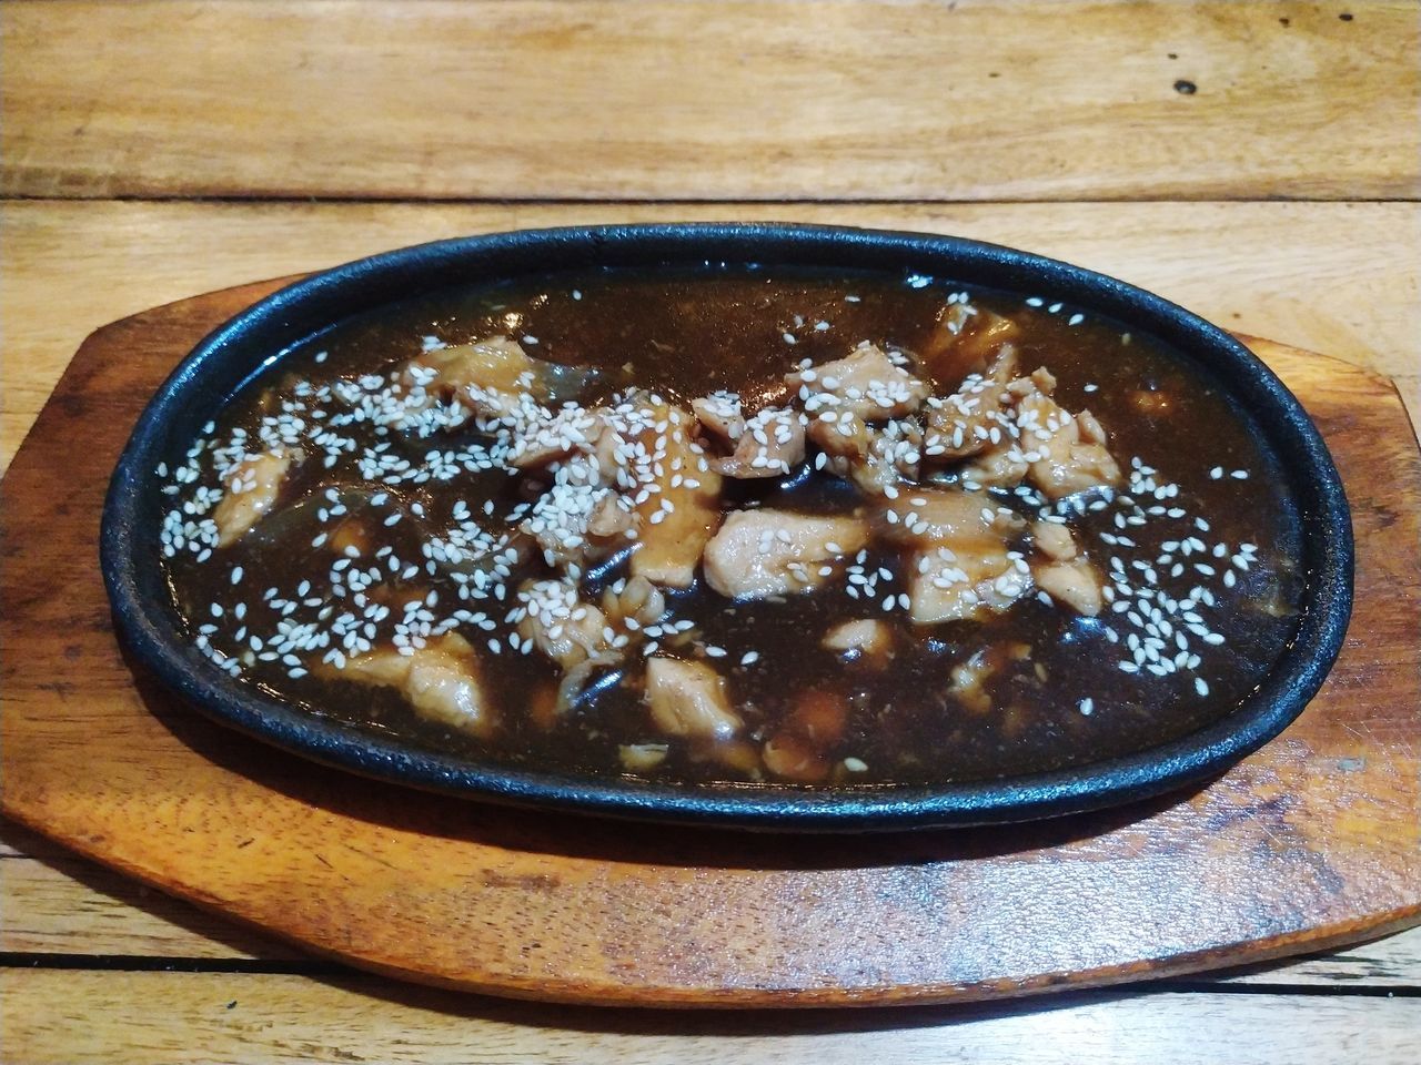
[[[361,542],[347,568],[374,559],[379,571],[365,594],[396,612],[418,599],[436,625],[456,609],[473,611],[468,602],[460,606],[459,588],[439,567],[431,572],[422,547],[462,514],[485,514],[490,501],[485,524],[516,525],[509,518],[529,501],[524,479],[490,469],[392,484],[372,481],[345,459],[297,464],[270,513],[234,544],[207,544],[203,554],[200,535],[183,538],[166,558],[175,602],[209,653],[311,713],[480,763],[593,775],[817,785],[985,780],[1142,750],[1222,717],[1253,690],[1293,632],[1296,514],[1246,416],[1209,379],[1148,338],[1070,307],[929,278],[746,267],[600,271],[439,293],[345,322],[286,354],[233,399],[210,439],[230,444],[233,429],[256,437],[263,417],[297,398],[301,381],[391,373],[433,342],[493,335],[516,341],[536,359],[595,368],[576,395],[587,408],[630,388],[686,409],[716,390],[739,395],[747,410],[790,402],[786,373],[806,359],[843,359],[863,341],[904,352],[911,371],[944,395],[961,382],[934,379],[917,352],[932,346],[948,298],[963,291],[975,308],[1016,324],[1023,373],[1047,368],[1063,408],[1088,408],[1100,419],[1128,479],[1115,491],[1066,500],[1064,507],[1030,493],[980,490],[985,506],[1026,523],[1046,511],[1069,514],[1083,552],[1111,588],[1097,616],[1026,595],[1000,613],[914,623],[894,601],[905,592],[909,558],[881,535],[855,564],[871,589],[836,575],[813,591],[743,601],[698,577],[688,589],[665,589],[668,616],[693,626],[662,643],[664,653],[723,676],[743,727],[732,740],[712,743],[655,727],[645,697],[648,656],[638,646],[594,670],[567,710],[550,713],[560,670],[536,650],[510,646],[517,625],[506,621],[519,581],[549,572],[534,554],[507,578],[507,598],[479,605],[487,625],[465,619],[452,626],[473,646],[495,709],[496,727],[475,736],[414,713],[394,687],[331,676],[317,665],[320,653],[273,657],[273,648],[283,626],[318,630],[348,608],[350,592],[333,595],[328,578],[340,561],[333,551],[340,528],[351,521]],[[311,422],[321,405],[301,402]],[[399,456],[411,470],[432,452],[487,437],[472,425],[435,437],[377,435],[362,425],[342,432],[361,447],[388,444],[384,454]],[[175,484],[175,500],[193,500],[196,486],[220,493],[215,446],[196,449],[192,479]],[[951,464],[925,471],[922,484],[962,487]],[[783,477],[726,479],[725,486],[726,510],[854,514],[865,507],[863,491],[817,471],[811,457]],[[912,487],[902,491],[911,496]],[[210,507],[212,497],[198,500],[199,511],[205,503]],[[1012,541],[1026,552],[1030,544],[1027,531]],[[401,559],[394,571],[375,557],[385,547],[385,561]],[[595,602],[625,577],[625,557],[591,564],[580,577],[580,595]],[[1194,589],[1211,602],[1188,598]],[[1179,609],[1187,598],[1188,609]],[[1177,604],[1174,611],[1167,601]],[[1199,619],[1198,630],[1184,613]],[[855,619],[887,625],[891,650],[845,656],[823,646],[830,629]],[[378,623],[369,633],[379,642],[387,628]],[[1150,633],[1167,646],[1141,659],[1130,642]],[[966,699],[953,670],[983,655],[992,662],[986,699]],[[1157,676],[1148,666],[1161,656],[1184,662]],[[1189,656],[1196,665],[1188,666]],[[764,747],[777,737],[813,741],[809,768],[770,770]],[[630,758],[628,748],[651,751],[651,758]]]

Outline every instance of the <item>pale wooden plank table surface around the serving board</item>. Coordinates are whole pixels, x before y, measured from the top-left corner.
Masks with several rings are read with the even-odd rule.
[[[1026,246],[1388,373],[1415,416],[1418,13],[10,3],[0,463],[114,318],[421,240],[610,220]],[[1421,1044],[1421,932],[1032,1003],[630,1014],[392,985],[28,832],[0,841],[4,1062],[1383,1065]]]

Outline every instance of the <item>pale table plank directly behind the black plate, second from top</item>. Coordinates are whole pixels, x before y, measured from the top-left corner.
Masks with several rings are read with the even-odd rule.
[[[956,233],[1076,261],[1228,328],[1408,375],[1403,395],[1421,419],[1421,210],[1410,203],[33,202],[0,210],[0,469],[84,337],[144,307],[469,233],[766,217]]]

